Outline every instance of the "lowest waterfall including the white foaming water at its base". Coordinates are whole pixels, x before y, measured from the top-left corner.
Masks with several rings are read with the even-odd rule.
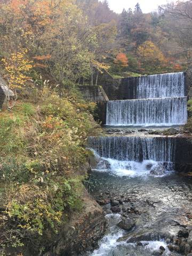
[[[135,177],[170,174],[174,167],[175,138],[90,137],[88,143],[98,171]]]

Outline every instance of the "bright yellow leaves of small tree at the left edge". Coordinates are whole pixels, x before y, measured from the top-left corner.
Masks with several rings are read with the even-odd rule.
[[[11,53],[10,57],[2,59],[11,89],[22,89],[29,80],[27,73],[33,68],[33,62],[28,59],[27,52],[27,49],[21,49],[20,52]]]

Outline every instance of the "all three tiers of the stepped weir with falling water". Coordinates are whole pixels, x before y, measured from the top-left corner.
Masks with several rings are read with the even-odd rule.
[[[187,97],[182,72],[139,77],[134,91],[135,99],[107,102],[106,125],[158,127],[186,124]],[[108,161],[107,168],[116,173],[114,169],[119,168],[128,172],[138,168],[139,172],[141,166],[135,167],[133,163],[145,162],[145,169],[146,161],[151,161],[152,165],[155,163],[155,166],[157,163],[171,163],[168,169],[172,170],[173,163],[178,163],[179,158],[183,163],[190,162],[190,153],[183,150],[178,154],[183,141],[185,139],[177,137],[148,137],[145,134],[138,137],[136,133],[135,136],[90,137],[88,145],[97,156]],[[106,169],[106,163],[99,164],[99,169]]]

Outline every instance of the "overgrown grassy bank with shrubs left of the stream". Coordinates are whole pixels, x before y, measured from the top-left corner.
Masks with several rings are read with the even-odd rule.
[[[46,229],[57,233],[81,209],[84,144],[101,130],[89,111],[94,105],[63,94],[36,91],[0,112],[1,246],[33,241],[38,251]]]

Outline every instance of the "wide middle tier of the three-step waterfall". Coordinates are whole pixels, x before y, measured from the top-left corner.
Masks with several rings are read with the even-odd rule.
[[[187,122],[187,97],[107,102],[107,125],[182,125]]]

